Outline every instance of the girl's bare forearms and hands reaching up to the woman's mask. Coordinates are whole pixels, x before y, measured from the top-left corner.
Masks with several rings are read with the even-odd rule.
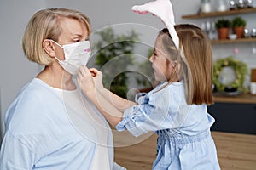
[[[78,72],[78,83],[84,94],[91,100],[113,127],[122,121],[123,111],[131,103],[119,96],[110,93],[102,86],[102,73],[96,69],[83,66]],[[99,89],[99,90],[98,90]],[[111,102],[110,102],[111,101]],[[134,103],[135,105],[135,103]],[[117,108],[119,106],[119,109]]]

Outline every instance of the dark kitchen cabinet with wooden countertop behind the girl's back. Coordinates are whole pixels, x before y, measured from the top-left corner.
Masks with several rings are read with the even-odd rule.
[[[208,112],[215,118],[213,131],[256,134],[256,95],[215,95]]]

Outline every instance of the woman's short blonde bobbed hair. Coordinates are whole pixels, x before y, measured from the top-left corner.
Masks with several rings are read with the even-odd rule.
[[[52,58],[44,52],[44,39],[58,42],[61,35],[61,19],[70,18],[79,20],[86,26],[90,34],[90,20],[79,11],[67,8],[48,8],[38,11],[29,20],[22,39],[23,52],[27,59],[39,65],[50,65]]]

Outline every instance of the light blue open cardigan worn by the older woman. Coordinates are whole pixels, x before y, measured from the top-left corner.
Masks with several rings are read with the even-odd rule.
[[[91,169],[99,144],[97,124],[78,117],[84,125],[84,131],[79,131],[67,116],[67,111],[72,110],[44,82],[37,78],[29,82],[7,111],[0,169]],[[118,166],[113,163],[111,130],[101,114],[92,114],[98,114],[108,129],[104,132],[108,133],[106,144],[102,146],[108,151],[101,157],[109,161],[108,167],[97,167],[115,169]]]

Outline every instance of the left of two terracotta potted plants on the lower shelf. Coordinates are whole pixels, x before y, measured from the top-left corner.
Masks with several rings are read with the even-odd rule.
[[[230,20],[219,19],[215,23],[218,30],[218,39],[227,39],[230,33]]]

